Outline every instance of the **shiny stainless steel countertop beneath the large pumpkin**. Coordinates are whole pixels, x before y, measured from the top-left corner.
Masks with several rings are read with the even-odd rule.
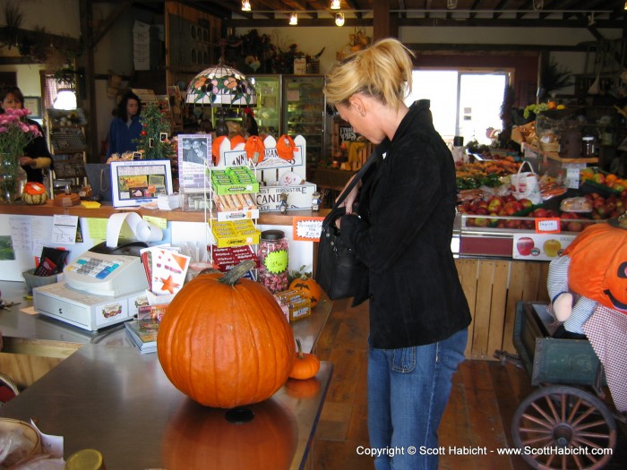
[[[65,458],[99,449],[110,469],[298,469],[305,466],[331,371],[331,363],[322,363],[311,396],[309,389],[292,391],[288,382],[270,399],[245,406],[252,421],[228,423],[226,410],[196,405],[175,389],[157,355],[90,344],[0,415],[34,418],[41,432],[64,436]]]

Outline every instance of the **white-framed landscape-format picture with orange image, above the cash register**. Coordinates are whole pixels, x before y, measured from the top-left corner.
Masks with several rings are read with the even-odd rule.
[[[111,162],[113,207],[133,207],[172,194],[170,160],[122,160]]]

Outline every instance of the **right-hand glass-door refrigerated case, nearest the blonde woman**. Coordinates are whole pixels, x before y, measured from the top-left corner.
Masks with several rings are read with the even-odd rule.
[[[284,133],[307,142],[307,180],[322,159],[325,134],[323,75],[283,75]]]

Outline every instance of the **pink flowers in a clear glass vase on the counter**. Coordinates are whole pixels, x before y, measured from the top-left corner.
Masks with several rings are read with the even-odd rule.
[[[28,124],[28,109],[5,109],[0,114],[0,200],[12,203],[20,199],[26,172],[20,166],[24,147],[41,132]]]

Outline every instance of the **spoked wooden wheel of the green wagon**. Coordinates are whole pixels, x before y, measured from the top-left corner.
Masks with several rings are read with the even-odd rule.
[[[511,436],[534,468],[597,470],[614,454],[616,423],[594,395],[573,387],[545,387],[520,403]]]

